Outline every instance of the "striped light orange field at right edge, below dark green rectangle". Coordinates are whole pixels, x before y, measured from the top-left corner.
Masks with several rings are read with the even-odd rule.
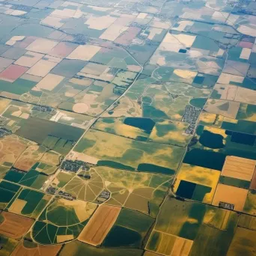
[[[240,180],[252,180],[256,161],[237,156],[227,156],[222,168],[222,176],[234,177]]]

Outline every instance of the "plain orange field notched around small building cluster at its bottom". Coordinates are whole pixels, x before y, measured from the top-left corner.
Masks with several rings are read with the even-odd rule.
[[[235,186],[218,184],[213,197],[213,205],[219,206],[219,202],[234,204],[234,210],[243,211],[248,190],[240,189]]]

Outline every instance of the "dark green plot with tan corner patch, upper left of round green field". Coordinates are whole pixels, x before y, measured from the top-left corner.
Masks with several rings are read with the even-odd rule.
[[[31,189],[22,189],[18,197],[8,208],[11,213],[36,218],[51,199],[50,195],[44,195]]]

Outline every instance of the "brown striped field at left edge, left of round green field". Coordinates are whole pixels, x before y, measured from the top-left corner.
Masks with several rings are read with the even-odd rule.
[[[0,234],[15,239],[20,238],[27,233],[34,222],[33,219],[18,216],[13,213],[2,212],[1,216],[4,217],[4,222],[0,225]]]

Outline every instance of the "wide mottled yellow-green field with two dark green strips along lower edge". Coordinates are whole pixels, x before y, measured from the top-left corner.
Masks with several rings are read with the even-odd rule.
[[[174,174],[183,156],[183,148],[145,143],[90,129],[75,151],[94,156],[98,165]]]

